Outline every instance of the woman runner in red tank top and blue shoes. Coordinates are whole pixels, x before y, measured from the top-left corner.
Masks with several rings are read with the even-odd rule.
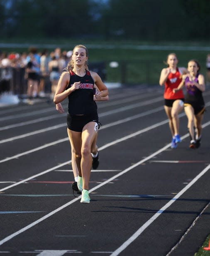
[[[175,53],[170,53],[166,60],[167,66],[162,69],[159,84],[165,85],[164,90],[164,109],[169,120],[169,127],[172,134],[171,148],[175,149],[177,143],[181,142],[179,136],[179,118],[178,114],[184,107],[184,95],[182,90],[179,93],[174,93],[173,89],[180,84],[182,75],[188,71],[184,67],[177,67],[178,59]]]

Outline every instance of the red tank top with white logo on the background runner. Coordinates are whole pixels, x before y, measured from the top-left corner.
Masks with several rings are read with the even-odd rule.
[[[173,93],[173,89],[177,88],[178,85],[182,81],[182,75],[178,70],[178,67],[176,68],[176,72],[169,73],[168,78],[165,82],[165,90],[164,90],[164,99],[182,99],[184,98],[184,94],[182,90],[179,90],[176,93]]]

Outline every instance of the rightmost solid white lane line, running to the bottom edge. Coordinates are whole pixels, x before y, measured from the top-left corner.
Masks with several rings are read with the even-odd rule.
[[[182,196],[193,184],[195,184],[200,177],[202,177],[208,170],[210,169],[210,164],[203,169],[203,171],[200,172],[190,183],[185,186],[173,199],[171,199],[167,204],[165,204],[159,211],[156,212],[147,222],[144,223],[125,243],[123,243],[119,248],[117,248],[110,256],[117,256],[119,255],[123,250],[129,246],[137,237],[142,234],[142,232],[147,229],[149,225],[152,224],[153,221],[155,221],[171,204],[173,204],[180,196]]]

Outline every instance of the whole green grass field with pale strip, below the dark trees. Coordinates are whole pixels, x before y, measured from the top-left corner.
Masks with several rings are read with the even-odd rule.
[[[22,43],[20,40],[0,42],[0,50],[6,52],[28,52],[28,47],[36,45],[38,50],[55,47],[61,50],[72,50],[76,44],[83,44],[89,50],[89,62],[105,62],[107,82],[122,82],[124,84],[151,84],[159,82],[161,69],[166,67],[164,61],[170,52],[175,52],[178,66],[186,67],[188,60],[200,62],[201,73],[205,75],[206,55],[210,53],[208,42],[137,42],[137,41],[87,41],[87,40],[43,40]],[[110,62],[116,61],[119,66],[110,67]]]

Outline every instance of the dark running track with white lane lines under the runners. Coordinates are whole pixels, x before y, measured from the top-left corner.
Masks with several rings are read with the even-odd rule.
[[[196,150],[184,112],[182,142],[170,148],[162,94],[121,87],[98,103],[90,204],[71,191],[66,113],[44,99],[1,107],[0,255],[194,255],[210,233],[210,90]]]

